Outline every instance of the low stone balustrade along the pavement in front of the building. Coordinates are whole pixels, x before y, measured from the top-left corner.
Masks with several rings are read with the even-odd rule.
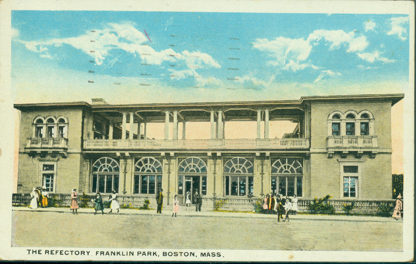
[[[92,194],[79,194],[78,204],[81,207],[93,207],[94,203],[92,199],[95,195]],[[144,200],[150,201],[150,208],[156,208],[156,196],[143,196],[143,195],[117,195],[117,200],[120,206],[128,206],[132,208],[139,208],[143,206]],[[51,206],[70,206],[71,198],[70,194],[63,193],[49,193]],[[109,195],[103,195],[103,201],[109,199]],[[263,204],[262,197],[203,197],[202,207],[208,210],[225,210],[225,211],[253,211],[255,204],[259,202]],[[298,198],[298,207],[300,212],[307,212],[308,205],[314,202],[311,198]],[[328,203],[335,209],[335,213],[344,213],[343,206],[349,205],[354,202],[354,207],[351,210],[351,214],[369,214],[376,215],[385,213],[385,215],[393,214],[393,207],[395,200],[347,200],[347,199],[329,199]],[[166,199],[165,199],[166,203]],[[30,194],[13,193],[12,204],[14,206],[28,206],[30,204]],[[166,206],[166,204],[165,204]]]

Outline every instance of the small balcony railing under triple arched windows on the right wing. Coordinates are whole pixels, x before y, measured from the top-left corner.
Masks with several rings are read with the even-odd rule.
[[[377,148],[377,136],[329,136],[327,148]]]

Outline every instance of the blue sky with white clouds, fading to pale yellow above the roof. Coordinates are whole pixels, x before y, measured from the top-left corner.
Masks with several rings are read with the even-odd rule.
[[[409,17],[12,11],[11,54],[21,103],[403,93]]]

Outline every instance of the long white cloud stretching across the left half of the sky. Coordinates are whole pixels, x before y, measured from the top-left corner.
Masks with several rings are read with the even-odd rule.
[[[156,51],[150,46],[149,39],[133,24],[109,23],[104,29],[95,29],[85,32],[85,34],[71,38],[55,38],[39,41],[22,41],[28,50],[40,53],[41,57],[51,58],[48,53],[49,46],[61,47],[69,45],[73,48],[82,50],[94,58],[96,65],[102,65],[106,56],[111,50],[121,49],[126,52],[139,56],[142,62],[152,65],[161,65],[163,62],[184,62],[189,67],[214,67],[221,68],[207,53],[199,51],[175,52],[172,48]],[[188,72],[195,72],[189,70]],[[183,72],[185,73],[185,72]],[[195,73],[194,73],[195,74]],[[178,74],[185,77],[185,74]]]

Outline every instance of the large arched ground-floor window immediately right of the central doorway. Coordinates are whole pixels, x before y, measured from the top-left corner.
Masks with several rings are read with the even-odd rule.
[[[254,166],[246,158],[236,157],[224,165],[225,195],[253,194]]]

